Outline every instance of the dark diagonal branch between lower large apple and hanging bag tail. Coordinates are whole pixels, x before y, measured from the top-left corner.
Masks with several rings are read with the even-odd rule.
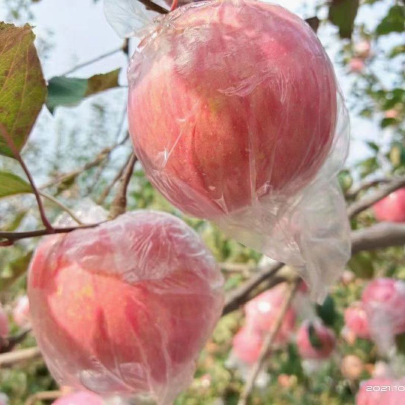
[[[258,287],[263,281],[273,277],[277,271],[284,266],[284,263],[275,263],[265,268],[260,269],[260,271],[250,277],[244,284],[230,292],[225,299],[225,306],[222,311],[222,315],[226,315],[229,312],[234,311],[239,308],[240,305],[244,304],[250,298],[250,293]]]

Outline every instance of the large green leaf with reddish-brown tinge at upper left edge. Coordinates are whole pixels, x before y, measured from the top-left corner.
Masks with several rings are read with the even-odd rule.
[[[0,22],[0,123],[18,150],[24,146],[47,93],[34,38],[28,24],[16,27]],[[14,156],[1,136],[0,154]]]

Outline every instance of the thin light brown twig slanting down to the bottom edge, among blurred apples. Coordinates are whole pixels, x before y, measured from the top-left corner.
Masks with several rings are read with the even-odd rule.
[[[248,403],[248,399],[249,399],[249,396],[255,385],[256,378],[257,378],[260,370],[262,369],[264,362],[270,352],[274,339],[275,339],[278,331],[280,330],[282,320],[284,319],[284,316],[286,315],[286,313],[290,307],[291,301],[294,298],[294,294],[297,291],[299,281],[300,281],[300,279],[296,278],[289,285],[289,289],[286,292],[286,298],[279,309],[278,315],[274,321],[274,324],[272,325],[272,328],[270,329],[270,331],[266,335],[266,338],[264,339],[263,346],[260,350],[259,358],[256,361],[256,363],[254,364],[254,366],[250,372],[250,375],[248,377],[244,390],[240,394],[238,405],[246,405]]]

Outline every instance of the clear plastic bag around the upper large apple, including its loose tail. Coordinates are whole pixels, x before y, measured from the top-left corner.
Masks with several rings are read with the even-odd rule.
[[[128,12],[148,32],[128,71],[128,114],[151,183],[297,268],[321,300],[350,256],[337,180],[349,126],[315,33],[255,0],[188,4],[147,26]]]

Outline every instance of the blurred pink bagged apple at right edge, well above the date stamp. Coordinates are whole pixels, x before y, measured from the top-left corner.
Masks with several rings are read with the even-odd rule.
[[[376,278],[363,291],[361,301],[373,337],[405,332],[405,282],[394,278]]]

